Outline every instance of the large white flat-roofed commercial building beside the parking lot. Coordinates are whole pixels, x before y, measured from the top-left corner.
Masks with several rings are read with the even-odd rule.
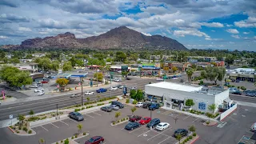
[[[162,99],[164,106],[180,110],[183,109],[187,99],[193,99],[192,109],[204,112],[209,112],[207,106],[212,104],[218,108],[228,109],[233,102],[229,98],[229,90],[174,82],[148,84],[145,86],[145,95],[151,99]]]

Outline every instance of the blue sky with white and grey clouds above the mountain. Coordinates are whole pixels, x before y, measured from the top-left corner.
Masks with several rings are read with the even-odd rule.
[[[0,0],[0,45],[128,26],[187,48],[256,51],[255,0]]]

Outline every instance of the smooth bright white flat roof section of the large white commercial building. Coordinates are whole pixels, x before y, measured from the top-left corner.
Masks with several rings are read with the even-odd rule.
[[[152,83],[148,84],[146,86],[154,86],[164,89],[170,89],[170,90],[180,90],[180,91],[186,91],[186,92],[194,92],[202,90],[203,86],[192,86],[192,85],[186,85],[182,83],[174,83],[174,82],[158,82],[158,83]]]

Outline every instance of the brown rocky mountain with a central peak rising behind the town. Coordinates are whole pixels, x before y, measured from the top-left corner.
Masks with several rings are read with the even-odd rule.
[[[185,46],[174,39],[161,35],[146,36],[126,26],[120,26],[88,38],[75,38],[74,34],[67,32],[55,37],[27,39],[18,48],[153,48],[169,50],[187,50]]]

